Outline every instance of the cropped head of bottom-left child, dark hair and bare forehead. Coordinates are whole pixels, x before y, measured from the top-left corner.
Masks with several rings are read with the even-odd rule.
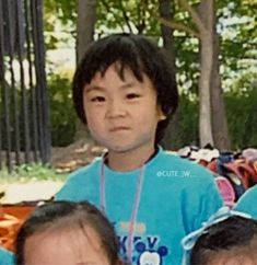
[[[113,226],[93,205],[55,201],[38,207],[16,238],[16,264],[119,264]]]

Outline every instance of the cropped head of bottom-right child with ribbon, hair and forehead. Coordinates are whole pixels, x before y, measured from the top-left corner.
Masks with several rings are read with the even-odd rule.
[[[191,250],[190,264],[257,264],[257,221],[232,216],[207,228]]]

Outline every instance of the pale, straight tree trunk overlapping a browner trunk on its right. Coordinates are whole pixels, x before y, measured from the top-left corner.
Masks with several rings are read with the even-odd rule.
[[[213,146],[211,124],[211,77],[214,47],[214,3],[213,0],[203,0],[199,5],[199,16],[202,23],[200,28],[200,80],[199,80],[199,131],[200,146]]]

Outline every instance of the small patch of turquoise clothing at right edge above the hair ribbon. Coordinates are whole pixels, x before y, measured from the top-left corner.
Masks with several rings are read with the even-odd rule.
[[[257,219],[257,185],[243,194],[235,205],[235,210],[249,214],[254,219]]]

